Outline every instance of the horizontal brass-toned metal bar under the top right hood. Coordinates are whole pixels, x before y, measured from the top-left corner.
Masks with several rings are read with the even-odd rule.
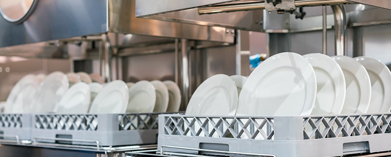
[[[296,7],[303,6],[320,6],[320,5],[339,5],[339,4],[351,4],[348,0],[297,0],[295,1]],[[264,2],[243,2],[233,4],[221,4],[215,6],[198,8],[198,14],[215,14],[215,13],[228,13],[235,11],[248,11],[265,9]]]

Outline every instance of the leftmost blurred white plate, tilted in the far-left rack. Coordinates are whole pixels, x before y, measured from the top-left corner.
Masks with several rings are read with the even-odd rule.
[[[9,93],[4,112],[23,113],[31,111],[31,100],[33,100],[39,84],[40,81],[34,75],[22,77]]]

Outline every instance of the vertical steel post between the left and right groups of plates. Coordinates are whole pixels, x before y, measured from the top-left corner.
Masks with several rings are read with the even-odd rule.
[[[185,110],[189,102],[189,64],[188,64],[188,41],[181,39],[181,74],[182,74],[182,105]]]

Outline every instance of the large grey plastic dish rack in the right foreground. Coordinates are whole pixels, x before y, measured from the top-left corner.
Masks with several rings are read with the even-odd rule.
[[[391,113],[296,117],[159,115],[161,154],[336,157],[391,151]],[[165,153],[166,152],[166,153]]]

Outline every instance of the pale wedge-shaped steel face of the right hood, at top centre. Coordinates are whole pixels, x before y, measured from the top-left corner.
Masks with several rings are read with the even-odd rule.
[[[136,16],[150,16],[234,0],[137,0]]]

